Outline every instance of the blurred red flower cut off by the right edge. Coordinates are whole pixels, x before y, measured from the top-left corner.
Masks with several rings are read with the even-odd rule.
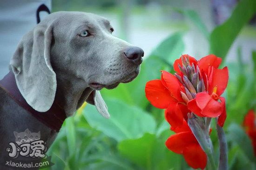
[[[256,114],[253,110],[248,111],[243,120],[245,131],[252,141],[254,155],[256,156]]]

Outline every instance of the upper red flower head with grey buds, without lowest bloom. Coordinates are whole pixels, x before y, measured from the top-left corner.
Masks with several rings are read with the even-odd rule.
[[[223,126],[226,119],[225,98],[221,97],[228,84],[228,68],[218,69],[222,59],[208,55],[199,61],[189,55],[175,60],[175,75],[162,71],[161,80],[151,80],[145,92],[149,102],[166,109],[169,123],[181,126],[187,113],[199,117],[218,117]]]

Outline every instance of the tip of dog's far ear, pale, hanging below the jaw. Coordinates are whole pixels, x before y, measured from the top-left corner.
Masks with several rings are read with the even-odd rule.
[[[95,105],[97,111],[104,117],[104,118],[110,118],[110,115],[108,113],[108,107],[106,103],[104,102],[101,92],[98,90],[94,90],[93,92],[90,93],[88,96],[87,103],[91,105]]]

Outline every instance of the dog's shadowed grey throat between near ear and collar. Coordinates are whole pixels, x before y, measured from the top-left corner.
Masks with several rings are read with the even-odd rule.
[[[82,78],[67,76],[58,72],[56,75],[56,103],[64,109],[67,117],[72,116],[86,101],[93,89],[89,88]]]

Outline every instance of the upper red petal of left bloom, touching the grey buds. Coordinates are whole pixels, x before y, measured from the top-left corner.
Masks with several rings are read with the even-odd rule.
[[[181,83],[179,80],[171,73],[162,71],[162,84],[168,88],[174,98],[178,101],[183,101],[181,96]]]

